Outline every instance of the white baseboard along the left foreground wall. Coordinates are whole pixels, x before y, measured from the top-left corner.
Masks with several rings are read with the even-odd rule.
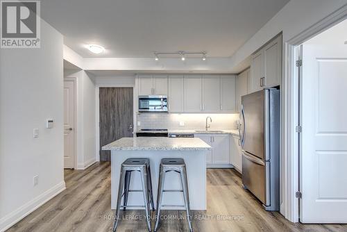
[[[49,190],[46,190],[46,192],[43,192],[31,201],[28,201],[23,206],[12,211],[5,217],[2,217],[0,219],[0,232],[6,231],[21,219],[32,213],[34,210],[45,204],[47,201],[49,201],[53,197],[56,197],[56,195],[58,195],[65,189],[65,181],[62,181],[58,183],[58,185],[53,186]]]

